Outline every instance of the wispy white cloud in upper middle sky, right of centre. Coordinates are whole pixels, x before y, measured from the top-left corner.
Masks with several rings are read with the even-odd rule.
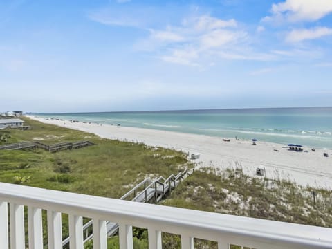
[[[150,30],[149,37],[136,44],[136,48],[140,46],[142,50],[158,51],[162,54],[158,57],[165,62],[202,66],[201,59],[205,55],[217,55],[217,51],[229,50],[245,42],[246,38],[247,33],[237,28],[234,19],[202,15],[183,19],[178,26]],[[204,64],[210,65],[210,61]]]

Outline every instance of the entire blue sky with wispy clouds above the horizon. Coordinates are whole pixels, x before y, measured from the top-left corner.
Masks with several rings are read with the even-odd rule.
[[[0,111],[332,106],[331,0],[1,0]]]

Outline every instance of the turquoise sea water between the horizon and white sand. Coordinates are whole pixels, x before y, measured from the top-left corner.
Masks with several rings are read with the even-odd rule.
[[[38,113],[37,116],[332,148],[332,107]]]

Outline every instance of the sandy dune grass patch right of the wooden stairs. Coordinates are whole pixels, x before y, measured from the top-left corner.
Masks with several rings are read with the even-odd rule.
[[[246,176],[241,169],[202,169],[163,205],[332,228],[332,192],[283,180]],[[315,192],[315,203],[313,201]]]

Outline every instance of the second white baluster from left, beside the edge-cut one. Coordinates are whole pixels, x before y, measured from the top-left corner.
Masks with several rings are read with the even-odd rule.
[[[10,248],[24,249],[24,205],[10,203]]]

